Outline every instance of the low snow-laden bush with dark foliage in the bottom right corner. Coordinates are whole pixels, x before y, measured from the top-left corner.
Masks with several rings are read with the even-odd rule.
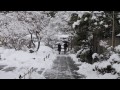
[[[93,71],[99,72],[99,74],[111,73],[120,76],[120,56],[118,54],[112,54],[108,60],[94,63]]]

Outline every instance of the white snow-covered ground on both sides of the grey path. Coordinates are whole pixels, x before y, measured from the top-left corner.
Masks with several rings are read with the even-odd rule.
[[[117,52],[119,52],[120,46],[117,46],[115,49]],[[46,58],[46,56],[49,54],[50,57]],[[25,79],[45,79],[44,73],[46,70],[49,70],[53,67],[53,61],[57,58],[57,53],[44,44],[41,44],[37,53],[15,51],[14,49],[5,49],[0,47],[0,55],[0,79],[18,79],[19,75],[23,76],[24,73],[27,73],[32,67],[35,69],[34,72],[30,77],[29,74],[26,75]],[[116,61],[118,63],[112,64],[111,66],[116,70],[117,73],[120,73],[120,55],[118,53],[112,53],[108,60],[96,62],[92,65],[81,62],[78,58],[76,58],[75,54],[69,54],[68,56],[70,56],[75,61],[75,64],[79,67],[77,72],[84,76],[83,79],[117,79],[119,77],[118,74],[113,75],[111,73],[105,73],[102,75],[97,71],[93,71],[95,66],[104,68],[108,65],[111,65],[111,62],[113,63]],[[61,63],[64,61],[65,60],[62,59]],[[60,70],[61,69],[62,68],[60,68]]]

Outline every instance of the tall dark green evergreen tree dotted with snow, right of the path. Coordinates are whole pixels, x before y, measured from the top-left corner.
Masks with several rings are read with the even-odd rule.
[[[115,35],[120,32],[117,14],[118,12],[115,12]],[[76,40],[75,45],[79,47],[77,49],[79,50],[80,46],[88,46],[90,48],[89,58],[93,53],[101,53],[99,41],[112,37],[112,22],[112,13],[108,11],[100,12],[98,15],[94,11],[84,13],[80,18],[80,24],[75,27],[74,40]],[[90,36],[93,38],[89,40]]]

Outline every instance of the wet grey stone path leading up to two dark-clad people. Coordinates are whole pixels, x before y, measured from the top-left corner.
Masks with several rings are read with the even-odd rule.
[[[46,79],[78,79],[81,78],[75,70],[78,67],[68,55],[59,55],[55,59],[52,69],[46,70],[44,76]]]

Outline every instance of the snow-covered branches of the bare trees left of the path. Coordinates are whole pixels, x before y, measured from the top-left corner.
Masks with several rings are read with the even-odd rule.
[[[39,38],[44,36],[42,31],[48,25],[49,19],[44,11],[0,13],[1,45],[7,48],[21,50],[23,46],[28,46],[31,42],[31,37],[29,39],[23,39],[28,34],[36,35],[37,41],[40,41]]]

